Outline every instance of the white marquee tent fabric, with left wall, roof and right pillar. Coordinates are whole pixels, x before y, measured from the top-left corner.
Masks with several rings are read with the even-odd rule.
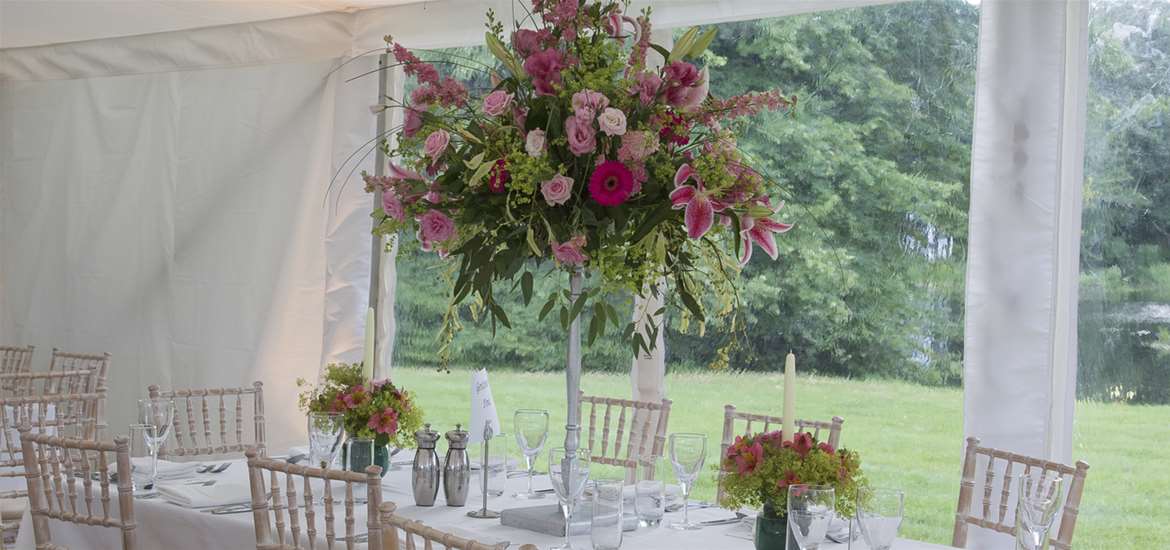
[[[653,4],[667,29],[879,2]],[[290,411],[296,378],[360,356],[370,199],[326,184],[373,137],[378,83],[347,78],[385,34],[476,43],[488,7],[511,4],[0,0],[0,341],[111,352],[111,426],[153,383],[262,379]],[[1087,7],[982,12],[965,431],[1067,460]]]

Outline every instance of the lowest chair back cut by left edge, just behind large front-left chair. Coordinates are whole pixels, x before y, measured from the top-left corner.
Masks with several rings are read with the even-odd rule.
[[[105,389],[94,393],[0,398],[0,477],[23,476],[20,427],[48,435],[94,440],[101,426],[94,411],[105,401]]]

